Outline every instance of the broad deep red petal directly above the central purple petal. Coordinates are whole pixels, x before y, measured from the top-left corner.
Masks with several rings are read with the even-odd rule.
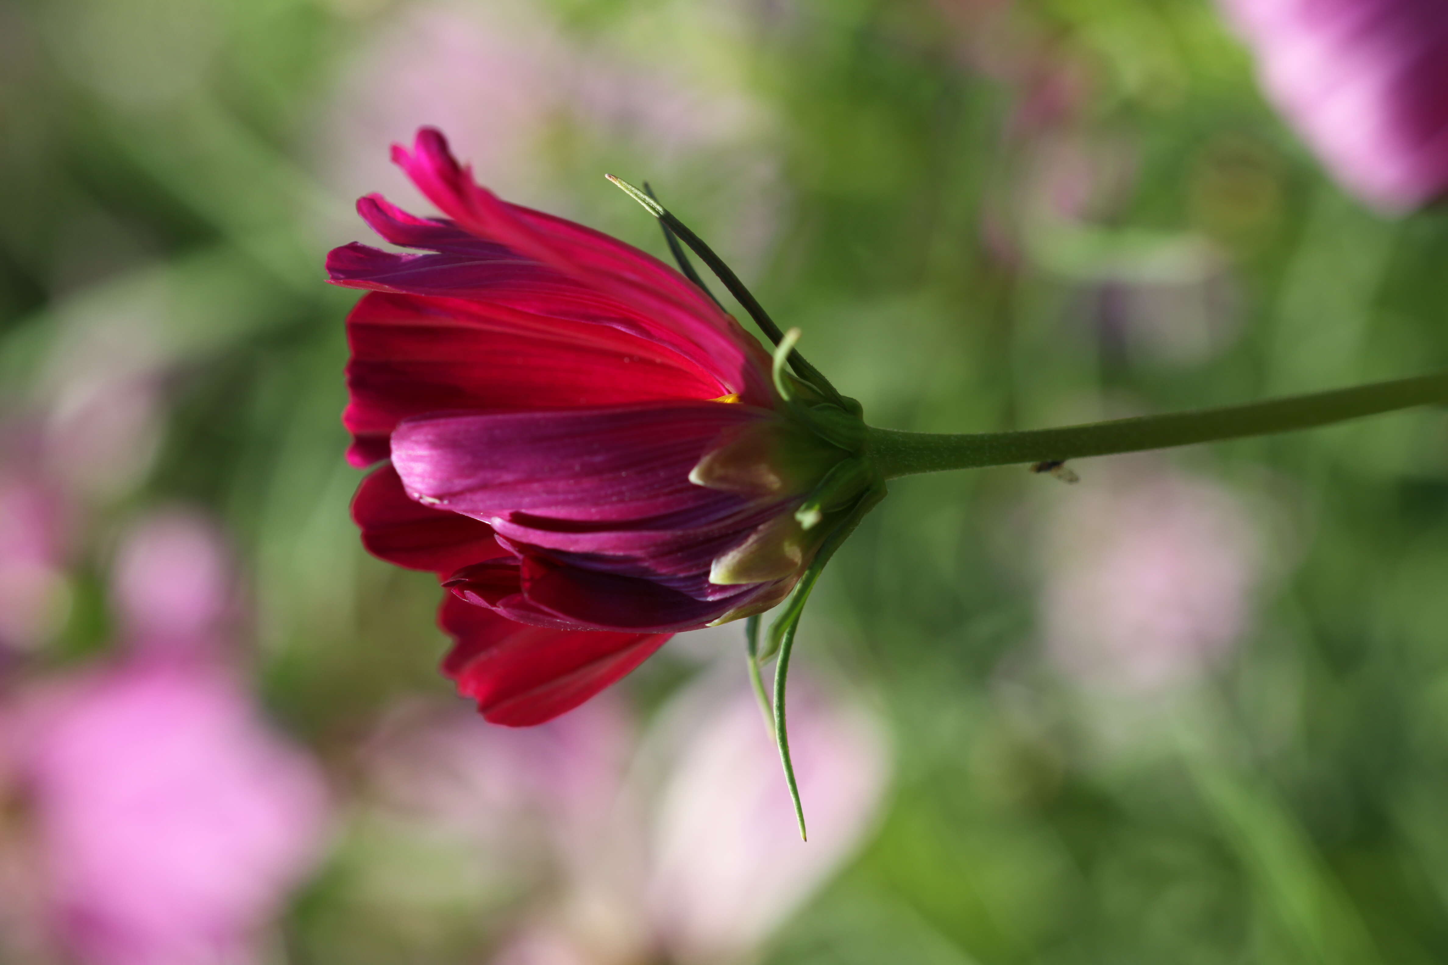
[[[604,326],[462,299],[371,292],[348,317],[353,464],[411,415],[710,398],[712,376]]]

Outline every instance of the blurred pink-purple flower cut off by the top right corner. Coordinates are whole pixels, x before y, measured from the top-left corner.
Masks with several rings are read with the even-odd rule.
[[[1387,211],[1448,190],[1448,4],[1221,3],[1267,95],[1344,185]]]

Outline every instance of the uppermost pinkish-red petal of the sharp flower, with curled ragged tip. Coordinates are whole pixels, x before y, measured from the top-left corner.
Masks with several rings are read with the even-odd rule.
[[[769,362],[760,344],[663,262],[581,224],[505,204],[472,179],[437,130],[421,129],[413,150],[395,145],[392,159],[459,227],[630,307],[662,344],[715,372],[747,401],[769,401]]]

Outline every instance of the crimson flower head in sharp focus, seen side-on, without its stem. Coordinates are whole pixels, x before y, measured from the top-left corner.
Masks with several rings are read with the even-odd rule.
[[[327,259],[372,289],[348,320],[349,457],[391,460],[353,518],[452,590],[460,692],[539,723],[675,631],[783,599],[831,530],[795,514],[851,453],[782,402],[759,343],[662,262],[478,187],[439,132],[394,159],[447,217],[363,197],[429,253]]]

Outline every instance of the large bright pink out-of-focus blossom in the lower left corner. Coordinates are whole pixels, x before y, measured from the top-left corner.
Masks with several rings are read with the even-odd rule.
[[[130,660],[56,694],[23,747],[54,924],[83,961],[248,961],[311,868],[313,764],[217,664]]]

